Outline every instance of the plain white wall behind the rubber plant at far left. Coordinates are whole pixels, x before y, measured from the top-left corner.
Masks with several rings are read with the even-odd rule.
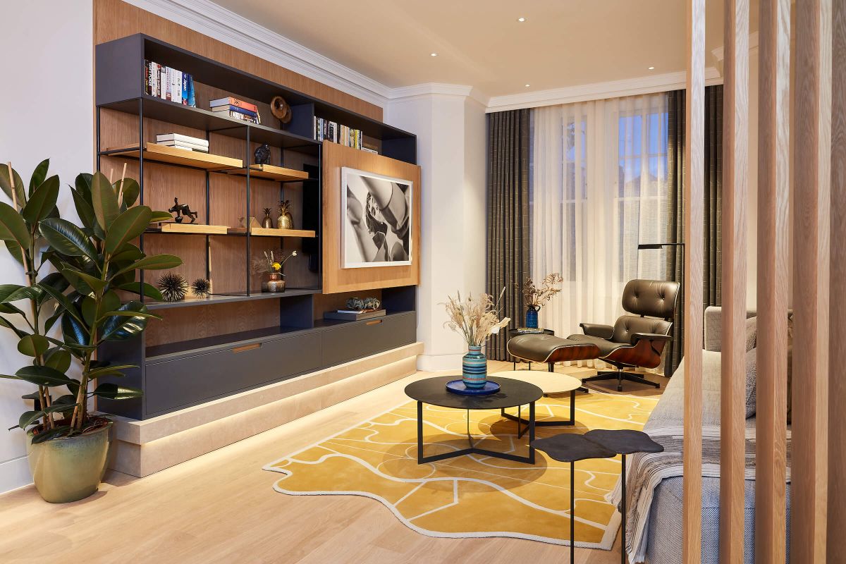
[[[3,89],[0,90],[0,162],[29,181],[33,168],[50,158],[50,173],[63,186],[94,163],[92,109],[92,7],[90,1],[16,2],[3,10]],[[6,198],[5,194],[2,197]],[[63,216],[74,216],[67,189],[59,199]],[[0,283],[25,283],[23,269],[0,248]],[[27,364],[17,339],[0,332],[0,373]],[[0,492],[29,484],[25,435],[17,424],[31,386],[0,380]]]

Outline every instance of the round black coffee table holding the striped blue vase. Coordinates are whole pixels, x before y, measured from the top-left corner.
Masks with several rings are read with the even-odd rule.
[[[444,458],[460,457],[465,454],[484,454],[488,457],[504,458],[519,463],[535,463],[535,447],[531,441],[535,440],[535,402],[543,397],[543,391],[538,386],[513,380],[511,378],[497,378],[492,375],[491,380],[499,384],[499,392],[489,396],[462,396],[447,391],[447,382],[460,378],[460,375],[437,376],[412,382],[405,386],[405,394],[411,399],[417,400],[417,463],[433,463]],[[423,456],[423,404],[429,403],[441,408],[466,409],[467,413],[467,441],[469,448],[455,452],[443,452],[442,454]],[[471,409],[504,409],[514,408],[519,405],[529,404],[529,455],[519,457],[508,452],[494,452],[479,448],[473,444],[473,437],[470,435],[470,410]],[[518,434],[519,422],[518,422]]]

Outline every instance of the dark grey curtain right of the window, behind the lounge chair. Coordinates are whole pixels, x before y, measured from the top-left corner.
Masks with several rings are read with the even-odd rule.
[[[684,90],[667,92],[668,238],[684,241]],[[721,304],[722,279],[722,85],[705,89],[705,248],[702,301]],[[674,238],[673,238],[674,236]],[[664,374],[672,375],[684,354],[684,255],[667,248],[667,276],[682,284],[673,320],[673,342],[667,348]]]

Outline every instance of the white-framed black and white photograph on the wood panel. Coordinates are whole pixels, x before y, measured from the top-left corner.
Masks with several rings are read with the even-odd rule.
[[[341,169],[343,268],[411,264],[413,189],[409,180]]]

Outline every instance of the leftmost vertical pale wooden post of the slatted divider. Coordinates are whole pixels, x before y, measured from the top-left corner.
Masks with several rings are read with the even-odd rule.
[[[705,0],[687,2],[684,147],[684,564],[702,559],[702,246],[705,194]]]

